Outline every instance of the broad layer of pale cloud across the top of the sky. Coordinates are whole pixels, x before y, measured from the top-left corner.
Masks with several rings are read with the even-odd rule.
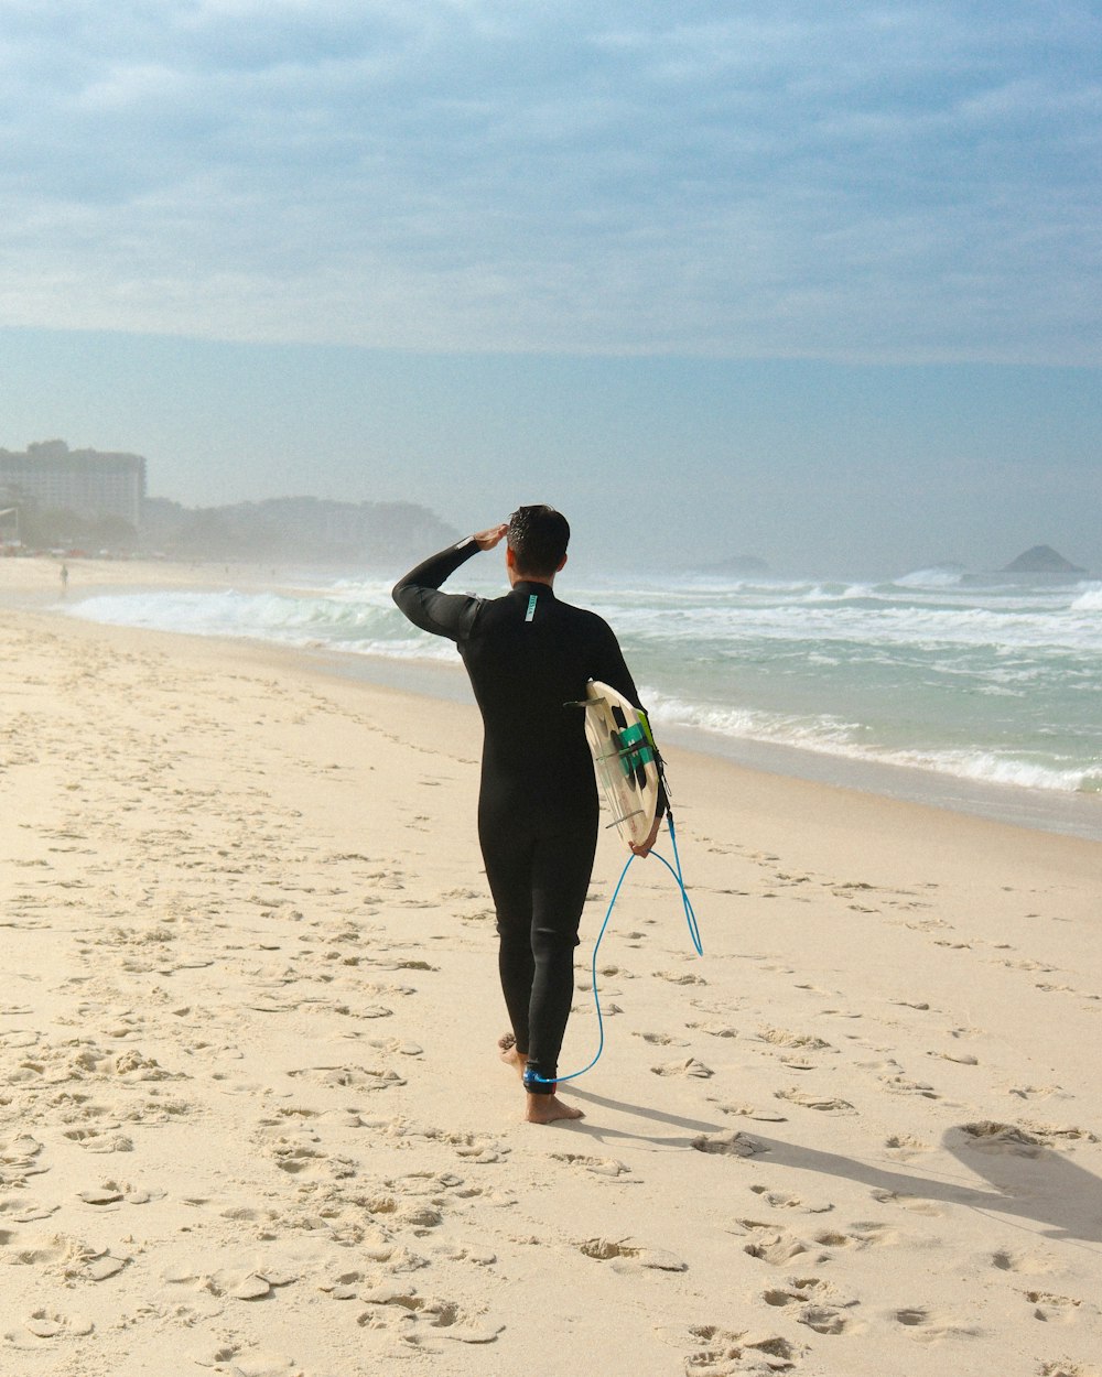
[[[0,4],[4,324],[1096,362],[1096,7]]]

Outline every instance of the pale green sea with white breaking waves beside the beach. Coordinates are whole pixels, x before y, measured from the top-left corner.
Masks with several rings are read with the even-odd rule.
[[[295,646],[360,677],[468,697],[455,647],[415,631],[390,584],[281,571],[269,587],[99,592],[66,610]],[[496,596],[503,582],[463,569],[448,588]],[[613,625],[660,742],[1102,839],[1099,581],[563,574],[557,591]]]

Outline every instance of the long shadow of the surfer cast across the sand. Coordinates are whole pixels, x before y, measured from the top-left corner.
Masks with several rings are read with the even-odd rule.
[[[708,1151],[708,1136],[718,1131],[715,1124],[676,1118],[591,1092],[574,1093],[595,1104],[656,1120],[671,1128],[689,1129],[690,1133],[694,1131],[690,1137],[680,1133],[653,1137],[599,1128],[584,1120],[576,1125],[579,1131],[599,1139],[646,1137],[661,1147],[682,1146]],[[986,1186],[973,1186],[963,1177],[919,1175],[913,1168],[894,1170],[838,1153],[822,1153],[814,1147],[765,1137],[753,1129],[745,1131],[745,1136],[758,1146],[759,1153],[767,1154],[769,1162],[780,1166],[861,1181],[873,1191],[904,1199],[944,1201],[995,1216],[1017,1216],[1040,1224],[1047,1238],[1102,1243],[1102,1179],[1011,1125],[960,1124],[948,1129],[942,1137],[942,1147],[961,1164],[967,1176],[981,1176]]]

